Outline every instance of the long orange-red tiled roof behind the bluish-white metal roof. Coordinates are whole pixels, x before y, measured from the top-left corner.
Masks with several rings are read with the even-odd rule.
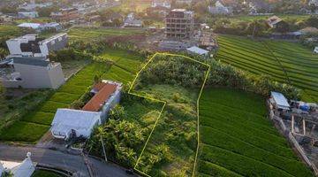
[[[99,84],[98,86],[102,87],[102,84]],[[88,112],[100,111],[102,105],[105,103],[106,100],[110,98],[111,94],[113,94],[116,91],[116,89],[116,84],[105,83],[102,89],[100,89],[99,92],[96,93],[91,100],[89,100],[89,102],[82,108],[82,110]]]

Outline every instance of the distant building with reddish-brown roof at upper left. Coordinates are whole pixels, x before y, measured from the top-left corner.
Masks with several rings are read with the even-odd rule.
[[[50,17],[57,21],[71,21],[79,19],[79,12],[76,8],[60,9],[59,12],[52,12]]]

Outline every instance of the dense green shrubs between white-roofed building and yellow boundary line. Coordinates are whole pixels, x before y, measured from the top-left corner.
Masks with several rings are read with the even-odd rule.
[[[110,120],[95,129],[87,150],[95,156],[104,157],[103,142],[107,158],[132,167],[162,107],[162,103],[124,93],[120,106],[110,112]]]

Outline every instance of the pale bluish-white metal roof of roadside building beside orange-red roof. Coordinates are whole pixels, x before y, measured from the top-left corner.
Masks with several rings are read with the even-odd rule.
[[[58,139],[69,139],[72,135],[88,138],[94,127],[101,124],[101,112],[57,109],[51,124],[51,133]]]

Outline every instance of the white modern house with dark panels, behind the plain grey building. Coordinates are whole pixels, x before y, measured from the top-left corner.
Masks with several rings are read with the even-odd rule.
[[[13,56],[47,57],[49,51],[62,50],[68,43],[67,34],[57,34],[42,40],[36,34],[23,35],[6,41]]]

